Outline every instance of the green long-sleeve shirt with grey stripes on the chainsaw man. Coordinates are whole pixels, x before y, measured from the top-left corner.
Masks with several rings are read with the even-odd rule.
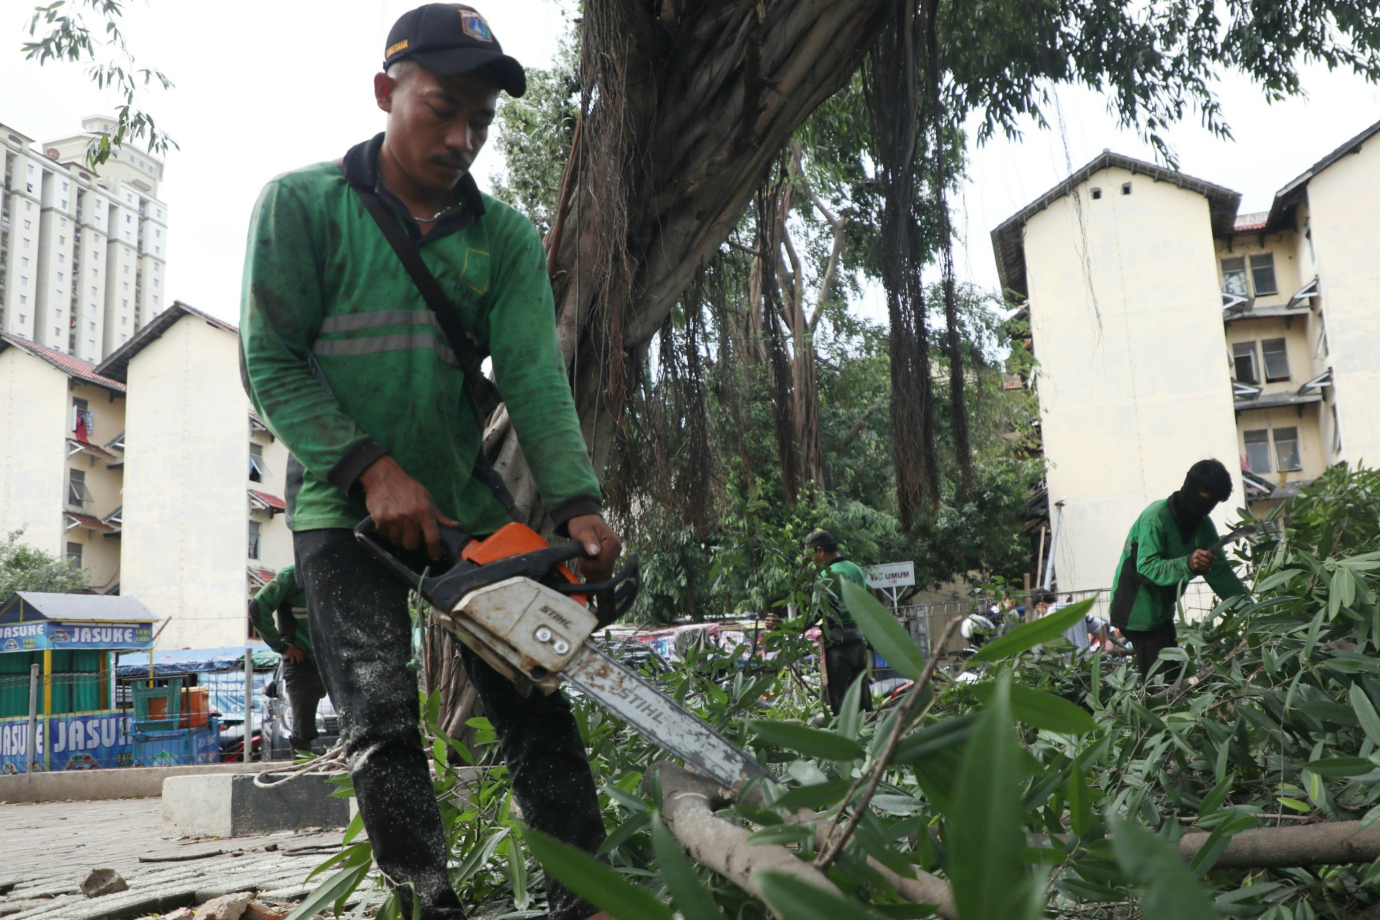
[[[384,454],[469,532],[508,523],[472,477],[482,432],[464,372],[435,316],[346,181],[378,182],[378,135],[341,164],[287,172],[259,194],[244,259],[240,342],[246,385],[269,430],[305,468],[288,488],[294,531],[353,527],[367,513],[359,474]],[[493,356],[497,383],[558,527],[599,510],[599,483],[556,341],[535,228],[482,194],[420,236],[426,266],[465,328]]]

